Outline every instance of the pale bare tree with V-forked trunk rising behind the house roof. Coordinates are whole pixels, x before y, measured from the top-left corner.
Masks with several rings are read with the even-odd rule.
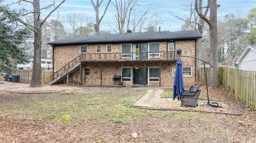
[[[104,17],[104,15],[106,14],[108,5],[110,4],[111,0],[108,0],[108,4],[107,4],[101,18],[99,18],[99,8],[100,8],[100,5],[102,4],[103,0],[101,0],[100,3],[99,3],[99,0],[96,0],[96,5],[94,4],[93,0],[91,0],[91,2],[92,2],[92,6],[94,7],[94,10],[96,12],[96,24],[93,25],[95,28],[95,34],[100,34],[100,22],[101,22],[102,18]]]

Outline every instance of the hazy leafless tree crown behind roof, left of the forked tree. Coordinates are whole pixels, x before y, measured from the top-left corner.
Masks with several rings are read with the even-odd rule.
[[[86,14],[67,14],[67,22],[71,27],[72,33],[66,30],[66,34],[70,36],[80,37],[93,34],[93,23],[88,19]],[[67,28],[66,28],[67,29]]]

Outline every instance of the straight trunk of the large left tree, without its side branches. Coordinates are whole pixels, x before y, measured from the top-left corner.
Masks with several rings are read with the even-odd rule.
[[[42,71],[41,71],[41,45],[42,31],[40,20],[40,0],[34,0],[34,60],[33,72],[30,87],[42,86]]]

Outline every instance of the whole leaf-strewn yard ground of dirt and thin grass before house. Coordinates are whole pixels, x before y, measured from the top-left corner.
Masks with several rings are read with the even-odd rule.
[[[150,90],[168,93],[171,89],[28,86],[0,84],[0,143],[256,142],[256,112],[222,87],[209,88],[209,96],[223,108],[200,106],[199,101],[207,99],[202,86],[196,108],[181,107],[178,101],[156,96],[153,100],[161,98],[161,104],[152,101],[154,104],[148,106],[165,110],[152,110],[134,108],[134,104]],[[238,112],[226,105],[242,115],[235,115]]]

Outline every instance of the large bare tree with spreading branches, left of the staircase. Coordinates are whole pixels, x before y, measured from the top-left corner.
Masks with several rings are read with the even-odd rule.
[[[17,18],[16,20],[22,24],[24,24],[26,27],[31,29],[34,32],[34,61],[33,61],[33,72],[32,72],[32,79],[30,83],[30,87],[40,87],[42,86],[42,71],[41,71],[41,46],[42,46],[42,25],[46,20],[49,18],[49,16],[58,8],[60,5],[62,5],[65,0],[62,0],[60,4],[55,6],[55,1],[52,2],[52,4],[49,4],[48,6],[44,8],[40,8],[40,0],[18,0],[19,4],[22,4],[22,2],[27,2],[32,4],[33,11],[27,12],[26,14],[33,14],[34,17],[34,25],[30,25],[26,22],[24,22],[22,19]],[[54,7],[54,9],[48,13],[48,15],[41,20],[41,10],[46,10],[51,7]]]

